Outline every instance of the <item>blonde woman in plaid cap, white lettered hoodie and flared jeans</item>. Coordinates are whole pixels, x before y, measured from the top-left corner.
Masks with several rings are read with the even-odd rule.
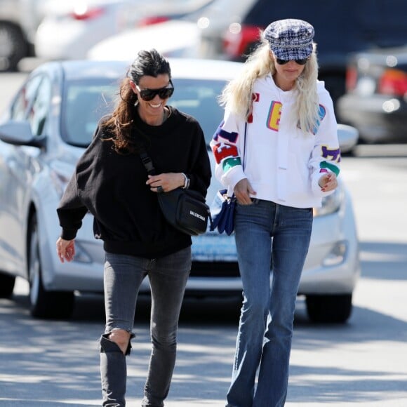
[[[243,283],[228,407],[286,401],[312,208],[338,186],[337,124],[317,79],[313,38],[308,22],[272,22],[220,97],[225,117],[211,147],[215,176],[238,202],[234,232]]]

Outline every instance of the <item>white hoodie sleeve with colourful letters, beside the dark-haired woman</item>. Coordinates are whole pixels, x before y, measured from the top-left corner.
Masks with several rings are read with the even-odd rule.
[[[237,182],[246,178],[243,171],[245,131],[245,122],[226,111],[210,143],[215,157],[215,178],[228,189],[233,190]]]

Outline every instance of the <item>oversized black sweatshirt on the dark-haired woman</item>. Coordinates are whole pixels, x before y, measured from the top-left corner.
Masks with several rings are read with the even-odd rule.
[[[161,126],[149,126],[137,117],[133,133],[149,136],[147,153],[156,173],[185,173],[189,189],[206,196],[211,164],[198,122],[173,107]],[[158,258],[192,244],[161,214],[157,194],[146,185],[147,171],[139,154],[114,151],[102,126],[76,165],[58,206],[62,239],[74,239],[89,211],[94,217],[95,237],[105,251]]]

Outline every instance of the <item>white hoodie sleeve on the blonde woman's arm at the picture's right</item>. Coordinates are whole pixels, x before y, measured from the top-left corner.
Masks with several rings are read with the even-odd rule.
[[[320,95],[319,123],[314,129],[315,145],[309,166],[312,171],[312,191],[317,196],[326,196],[331,192],[322,192],[318,185],[323,173],[340,173],[340,147],[338,141],[338,124],[335,119],[333,102],[327,91]]]

